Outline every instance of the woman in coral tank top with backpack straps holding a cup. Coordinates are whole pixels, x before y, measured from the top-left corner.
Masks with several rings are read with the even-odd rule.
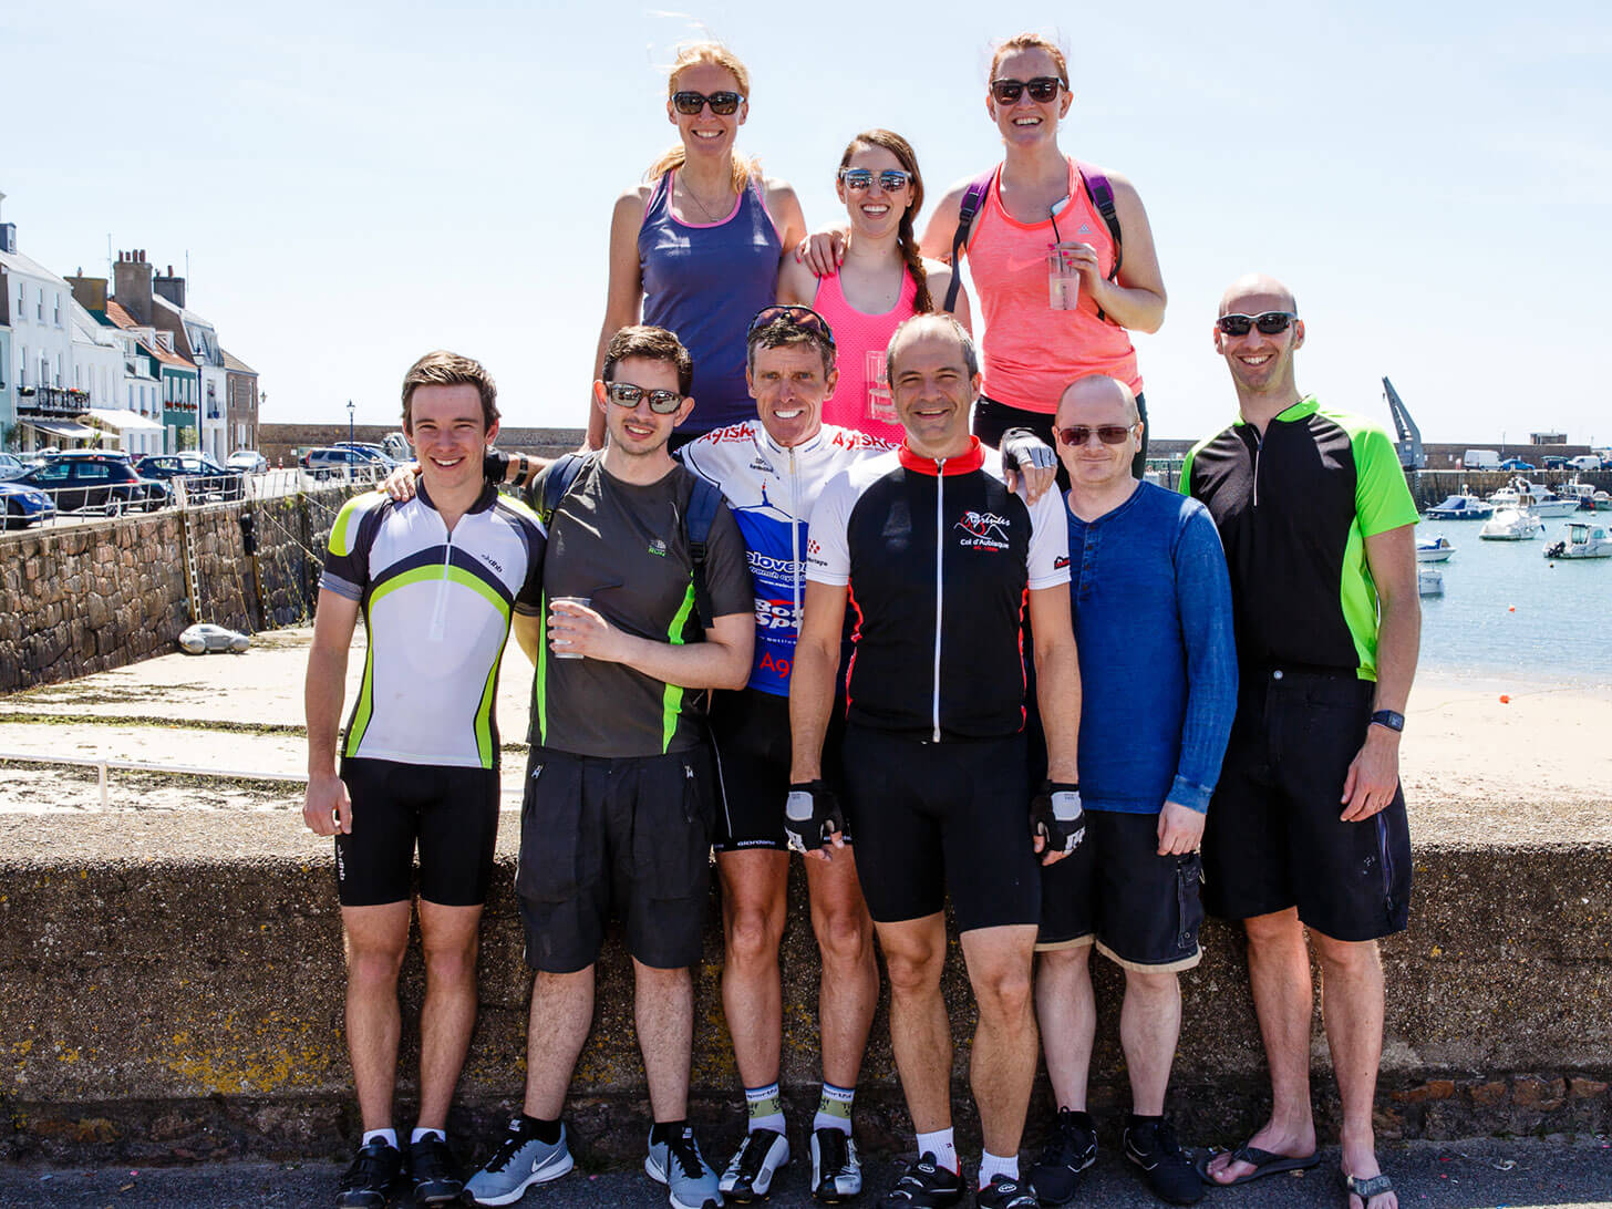
[[[985,382],[974,432],[988,445],[1011,427],[1028,427],[1051,443],[1059,397],[1086,374],[1128,384],[1143,424],[1148,419],[1130,332],[1156,332],[1164,322],[1153,231],[1130,181],[1104,171],[1120,226],[1120,247],[1114,247],[1080,166],[1057,145],[1070,102],[1069,64],[1053,42],[1019,34],[998,47],[985,108],[1006,153],[964,245],[985,319]],[[951,258],[967,189],[964,181],[940,200],[924,232],[927,255]],[[1146,429],[1138,477],[1145,459]]]

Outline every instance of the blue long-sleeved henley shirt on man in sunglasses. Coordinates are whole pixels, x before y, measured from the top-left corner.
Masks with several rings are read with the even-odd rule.
[[[1138,484],[1069,517],[1080,648],[1080,798],[1090,809],[1209,809],[1236,713],[1232,585],[1209,509]]]

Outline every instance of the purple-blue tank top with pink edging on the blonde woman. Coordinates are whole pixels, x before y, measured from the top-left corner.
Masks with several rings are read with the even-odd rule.
[[[753,419],[745,385],[745,332],[777,300],[779,239],[753,179],[721,222],[672,216],[672,176],[650,195],[638,227],[643,321],[677,332],[695,359],[695,409],[680,434],[703,434]]]

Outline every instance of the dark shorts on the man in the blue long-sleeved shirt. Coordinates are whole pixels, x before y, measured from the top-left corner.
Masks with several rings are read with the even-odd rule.
[[[1203,959],[1196,853],[1159,856],[1159,816],[1086,811],[1086,838],[1041,869],[1038,949],[1091,945],[1130,970],[1190,970]]]

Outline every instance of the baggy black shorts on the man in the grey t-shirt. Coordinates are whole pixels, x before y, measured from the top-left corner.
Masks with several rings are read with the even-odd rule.
[[[714,785],[706,748],[622,759],[532,748],[514,880],[526,964],[587,969],[614,912],[645,966],[698,966]]]

